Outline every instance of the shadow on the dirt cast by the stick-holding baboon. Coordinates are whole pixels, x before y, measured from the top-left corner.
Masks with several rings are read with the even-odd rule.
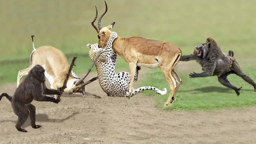
[[[78,112],[73,113],[73,114],[71,114],[70,116],[67,116],[64,119],[49,119],[48,115],[39,113],[39,114],[36,114],[36,123],[37,122],[59,122],[60,123],[60,122],[64,122],[67,119],[70,119],[71,117],[73,117],[73,116],[75,116],[77,114],[78,114]],[[0,123],[3,123],[3,122],[13,122],[13,123],[16,123],[17,121],[2,120]],[[29,118],[27,119],[27,121],[25,122],[25,124],[22,127],[26,128],[28,126],[30,126],[30,119]]]

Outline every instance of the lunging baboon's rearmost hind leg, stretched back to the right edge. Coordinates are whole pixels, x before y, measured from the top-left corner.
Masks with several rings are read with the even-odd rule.
[[[256,83],[249,76],[243,73],[242,68],[239,66],[239,64],[236,61],[233,63],[232,69],[238,76],[240,76],[243,80],[245,80],[250,85],[252,85],[254,87],[254,91],[256,91]]]

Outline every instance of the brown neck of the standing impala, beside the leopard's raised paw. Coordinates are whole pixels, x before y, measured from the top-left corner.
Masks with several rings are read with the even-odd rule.
[[[124,46],[125,46],[125,38],[117,37],[112,44],[112,49],[118,55],[120,55],[122,58],[124,58]]]

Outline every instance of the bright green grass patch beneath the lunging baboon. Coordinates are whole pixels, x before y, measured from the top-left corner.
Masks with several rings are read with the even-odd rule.
[[[256,79],[256,68],[247,68],[244,71],[252,79]],[[253,86],[239,76],[228,76],[233,85],[243,87],[240,96],[237,97],[235,91],[221,85],[216,76],[189,78],[188,74],[189,72],[180,74],[182,84],[172,106],[164,106],[164,102],[169,96],[169,90],[166,95],[157,95],[153,91],[143,91],[143,94],[155,95],[155,106],[163,110],[213,110],[228,107],[248,107],[256,104],[256,93]],[[148,79],[141,83],[141,86],[143,85],[168,89],[168,84],[160,69],[153,70]]]

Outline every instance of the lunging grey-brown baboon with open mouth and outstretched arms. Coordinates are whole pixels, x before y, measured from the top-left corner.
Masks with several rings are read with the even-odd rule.
[[[232,50],[226,55],[213,38],[207,38],[206,43],[196,46],[193,54],[182,56],[180,61],[196,60],[201,65],[203,72],[190,73],[190,78],[218,76],[218,80],[222,85],[235,90],[237,96],[239,96],[242,87],[237,88],[231,85],[227,79],[228,75],[236,74],[251,84],[254,87],[254,91],[256,91],[256,83],[243,73],[242,68],[233,56],[234,52]]]

